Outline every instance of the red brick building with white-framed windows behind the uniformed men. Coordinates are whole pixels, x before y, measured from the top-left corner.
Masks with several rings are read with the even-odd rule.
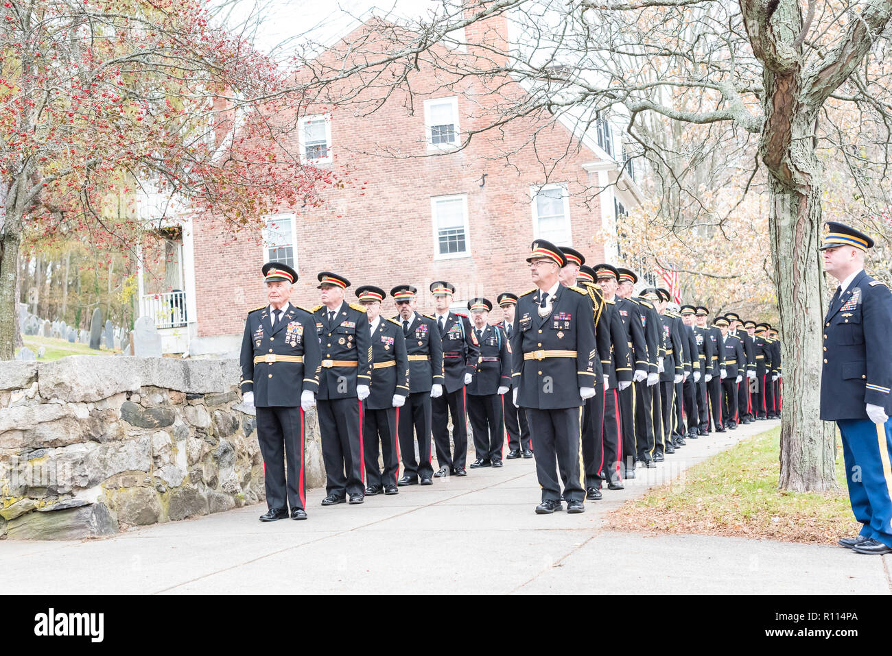
[[[343,42],[380,25],[368,21]],[[502,17],[474,29],[465,35],[468,44],[509,36]],[[465,58],[466,66],[478,56],[473,46],[443,45],[438,54]],[[320,207],[282,207],[267,217],[262,240],[243,234],[233,241],[210,224],[186,222],[180,304],[190,310],[179,328],[186,344],[181,339],[166,348],[192,355],[238,348],[245,313],[266,298],[260,265],[269,259],[297,270],[292,302],[298,305],[318,305],[316,275],[332,270],[351,280],[349,300],[361,284],[389,290],[411,283],[425,292],[418,304],[424,312],[433,310],[426,291],[434,280],[456,285],[454,307],[462,309],[478,295],[494,301],[501,291],[529,290],[524,258],[537,237],[572,245],[592,262],[615,262],[616,246],[605,246],[602,231],[617,211],[640,202],[619,131],[605,120],[588,134],[559,121],[517,120],[458,148],[465,131],[491,119],[492,84],[422,65],[410,97],[392,94],[368,116],[350,107],[315,113],[310,106],[300,118],[301,156],[338,170],[349,163],[347,184],[321,193]],[[508,93],[524,93],[516,81],[508,86]],[[509,161],[500,158],[506,152]],[[592,197],[592,187],[605,189]],[[388,316],[390,302],[384,301]],[[491,321],[499,318],[497,307]]]

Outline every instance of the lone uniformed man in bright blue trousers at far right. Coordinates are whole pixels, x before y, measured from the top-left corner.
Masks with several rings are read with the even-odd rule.
[[[839,544],[892,553],[892,292],[864,272],[872,246],[855,228],[824,224],[824,270],[839,286],[824,317],[821,418],[839,427],[848,496],[862,524]]]

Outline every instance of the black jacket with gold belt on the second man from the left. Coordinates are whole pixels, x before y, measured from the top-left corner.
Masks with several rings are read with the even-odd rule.
[[[314,308],[313,316],[322,351],[318,399],[356,397],[356,386],[372,380],[372,338],[366,308],[342,302],[333,323],[328,322],[325,306]],[[339,364],[348,362],[357,365]],[[347,384],[341,385],[342,381]]]

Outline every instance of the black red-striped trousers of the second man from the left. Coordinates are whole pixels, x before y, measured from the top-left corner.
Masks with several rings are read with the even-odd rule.
[[[322,462],[326,465],[326,492],[339,497],[364,494],[359,398],[320,399],[316,411]]]

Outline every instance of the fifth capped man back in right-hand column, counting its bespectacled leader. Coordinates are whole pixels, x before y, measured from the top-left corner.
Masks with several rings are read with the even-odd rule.
[[[638,383],[647,381],[650,370],[650,354],[648,341],[644,334],[644,321],[641,316],[641,307],[632,299],[635,283],[638,283],[638,275],[631,269],[617,266],[619,281],[616,285],[616,311],[623,320],[629,348],[632,348],[632,382],[626,389],[620,389],[619,406],[623,429],[623,477],[635,478],[635,463],[638,462],[638,434],[635,426],[635,406],[637,406]],[[655,356],[656,361],[656,356]],[[654,371],[657,371],[654,365]],[[642,447],[647,443],[642,440]]]

